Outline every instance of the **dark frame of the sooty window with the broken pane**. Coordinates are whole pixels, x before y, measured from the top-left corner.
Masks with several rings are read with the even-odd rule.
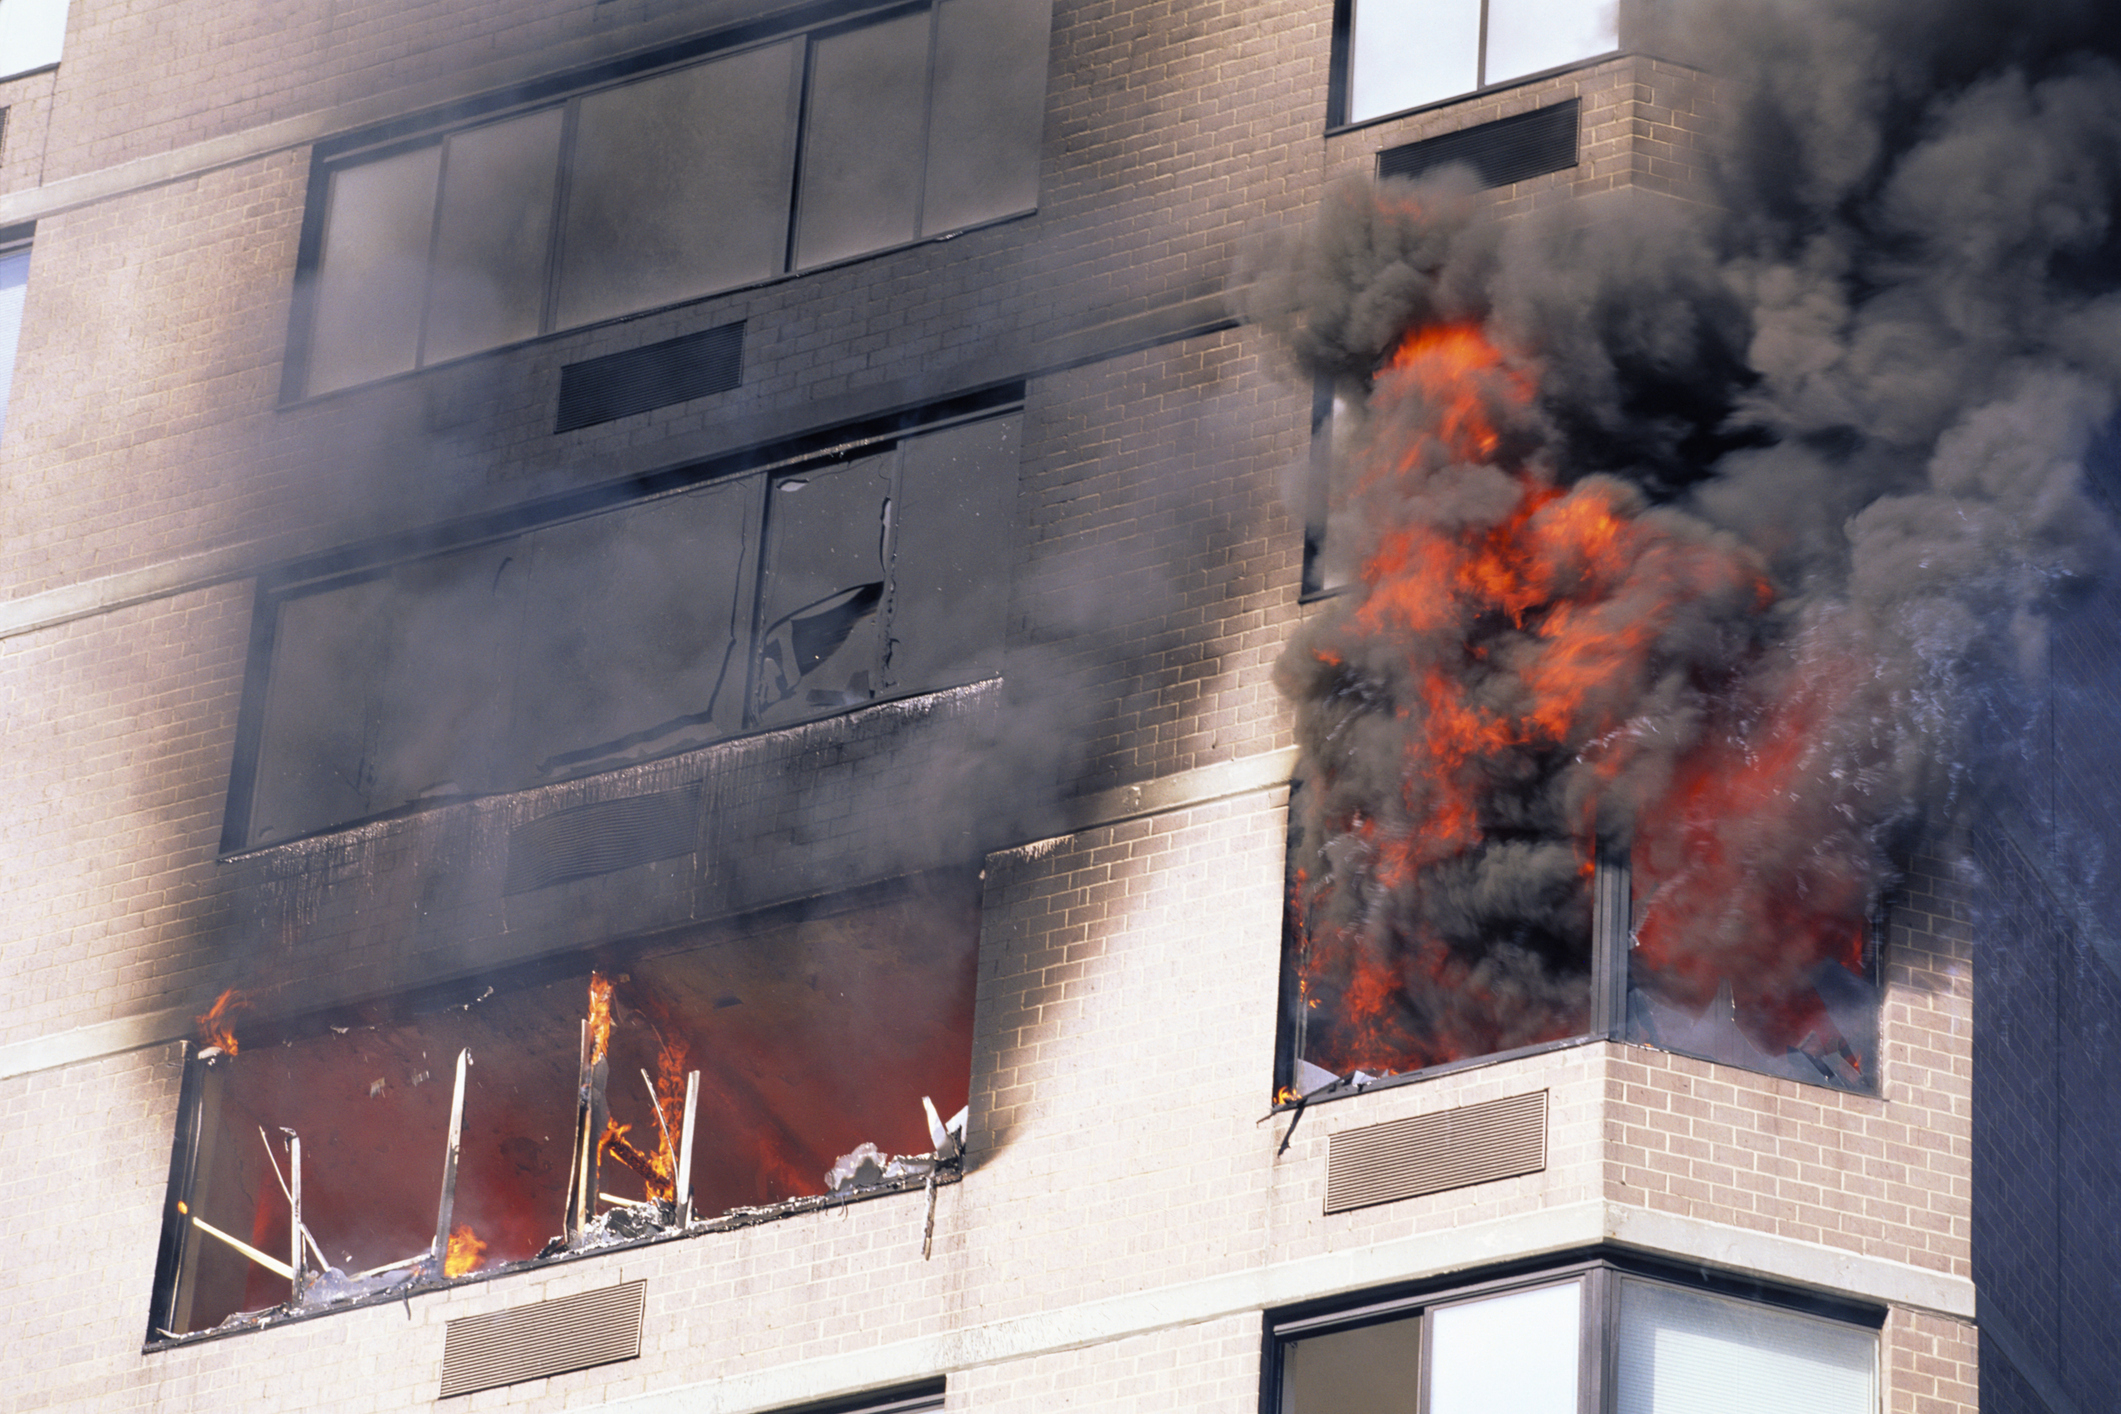
[[[378,541],[356,543],[284,564],[269,570],[257,579],[250,611],[250,644],[244,668],[244,693],[235,717],[235,750],[229,767],[229,795],[223,808],[221,827],[221,859],[238,859],[261,850],[282,848],[293,839],[329,835],[344,829],[354,829],[367,820],[420,812],[428,808],[439,808],[454,803],[456,797],[435,799],[435,801],[409,801],[403,806],[382,808],[356,818],[337,820],[327,827],[288,835],[282,839],[250,839],[252,814],[259,789],[259,763],[265,748],[267,731],[267,700],[271,695],[274,676],[274,647],[278,640],[280,606],[291,600],[305,598],[310,594],[320,594],[346,585],[361,583],[365,579],[388,577],[399,566],[409,566],[426,560],[439,560],[448,553],[477,549],[481,545],[494,545],[513,536],[532,534],[568,522],[590,519],[594,515],[626,511],[630,507],[643,507],[651,500],[662,500],[670,496],[683,496],[687,492],[704,490],[713,483],[738,485],[742,481],[753,481],[751,488],[755,513],[747,524],[747,555],[749,564],[738,570],[738,602],[736,611],[740,615],[742,638],[738,640],[740,653],[744,653],[738,672],[732,672],[732,693],[740,693],[744,725],[721,740],[738,740],[747,736],[757,736],[761,731],[783,731],[797,723],[759,723],[755,721],[753,700],[755,700],[755,672],[759,636],[764,621],[759,619],[764,606],[764,589],[770,583],[768,570],[761,564],[766,547],[772,543],[772,515],[766,509],[766,490],[785,481],[800,471],[812,466],[834,466],[840,462],[853,462],[863,456],[878,452],[889,452],[895,445],[927,437],[933,432],[946,432],[959,426],[971,426],[978,422],[1020,416],[1024,407],[1024,384],[1020,379],[993,384],[971,392],[963,392],[954,399],[944,399],[937,403],[927,403],[921,407],[904,409],[897,413],[887,413],[882,418],[867,418],[853,424],[838,424],[821,428],[814,432],[804,432],[797,437],[761,443],[742,452],[732,452],[719,458],[708,458],[704,462],[689,462],[660,473],[647,473],[641,477],[628,477],[624,481],[611,481],[581,492],[566,492],[560,496],[549,496],[534,500],[509,511],[475,515],[458,522],[448,522],[443,526],[431,526],[424,530],[386,536]],[[1022,447],[1018,447],[1020,456]],[[999,644],[997,644],[999,647]],[[878,691],[865,704],[851,704],[831,710],[819,710],[802,717],[800,721],[823,721],[838,717],[857,706],[872,706],[876,702],[891,702],[899,697],[918,697],[929,691],[944,691],[940,687],[893,687],[891,691]],[[670,753],[691,750],[689,746],[674,746]],[[607,770],[617,770],[617,765],[590,765],[585,770],[564,772],[556,780],[573,780],[583,776],[596,776]],[[549,782],[526,782],[509,786],[498,793],[513,793],[537,789]],[[492,795],[492,791],[479,793]]]

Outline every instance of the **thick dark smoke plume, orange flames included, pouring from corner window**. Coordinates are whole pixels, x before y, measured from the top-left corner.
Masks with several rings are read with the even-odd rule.
[[[1854,1056],[1822,969],[2108,553],[2121,15],[1680,0],[1644,47],[1714,87],[1697,193],[1347,184],[1260,286],[1347,420],[1351,591],[1281,666],[1334,1071],[1580,1030],[1599,844],[1637,984]]]

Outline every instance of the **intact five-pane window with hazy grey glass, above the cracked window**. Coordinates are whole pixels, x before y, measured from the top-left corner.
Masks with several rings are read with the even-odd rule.
[[[335,153],[288,396],[1027,212],[1048,25],[895,6]]]

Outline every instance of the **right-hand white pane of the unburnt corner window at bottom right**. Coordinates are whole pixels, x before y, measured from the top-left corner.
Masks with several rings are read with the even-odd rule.
[[[1618,1414],[1877,1414],[1877,1333],[1620,1283]]]

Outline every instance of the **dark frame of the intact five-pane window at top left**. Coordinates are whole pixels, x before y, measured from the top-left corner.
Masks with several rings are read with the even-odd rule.
[[[647,314],[662,310],[677,310],[683,305],[700,303],[704,299],[719,299],[736,290],[759,288],[766,284],[776,284],[783,280],[793,280],[821,269],[834,269],[838,265],[848,265],[853,261],[865,261],[891,250],[906,250],[912,246],[954,240],[963,231],[980,229],[986,225],[997,225],[1003,220],[1016,220],[1037,210],[1035,197],[1033,206],[1022,210],[1010,210],[993,216],[982,216],[969,225],[952,227],[946,231],[935,231],[931,235],[921,233],[921,201],[914,204],[914,235],[912,240],[878,246],[874,250],[861,250],[855,254],[844,254],[827,261],[817,261],[808,265],[797,265],[797,231],[802,218],[802,178],[804,178],[804,146],[808,142],[810,125],[810,100],[812,100],[812,68],[814,53],[821,40],[861,30],[874,23],[889,23],[891,19],[927,13],[929,15],[929,70],[927,87],[923,91],[923,189],[925,189],[925,167],[929,155],[927,134],[933,127],[935,108],[935,51],[937,34],[942,25],[944,0],[814,0],[812,4],[802,4],[793,8],[778,11],[759,19],[749,19],[740,23],[721,25],[691,38],[664,45],[645,53],[624,55],[619,59],[609,59],[588,68],[577,68],[566,74],[556,74],[549,78],[539,78],[530,83],[520,83],[507,89],[484,93],[477,98],[460,100],[454,104],[443,104],[401,119],[390,119],[386,123],[375,123],[350,134],[327,138],[310,148],[310,174],[308,174],[308,199],[303,204],[301,233],[297,237],[295,257],[295,288],[288,310],[288,337],[286,356],[280,367],[280,407],[293,407],[310,403],[316,399],[331,399],[361,388],[373,388],[399,377],[411,377],[428,369],[450,367],[467,358],[481,358],[501,350],[522,348],[543,339],[564,337],[581,333],[585,329],[598,329],[604,324],[617,324],[626,320],[636,320]],[[653,305],[643,305],[638,310],[624,310],[619,314],[598,316],[579,324],[562,324],[560,320],[560,276],[564,263],[564,220],[568,214],[568,189],[573,182],[575,165],[575,134],[579,125],[579,108],[585,98],[619,89],[630,83],[655,81],[679,70],[711,64],[717,59],[736,57],[744,51],[766,49],[781,42],[800,42],[802,53],[795,55],[797,64],[797,85],[795,85],[795,112],[789,121],[789,146],[791,146],[791,172],[789,172],[789,197],[787,210],[783,212],[785,231],[781,242],[778,265],[772,273],[744,280],[732,286],[713,288],[700,295],[687,295],[681,299],[670,299]],[[1050,72],[1050,59],[1041,55],[1041,70]],[[539,299],[539,331],[534,335],[496,343],[492,348],[473,350],[467,354],[452,354],[448,358],[437,358],[424,363],[428,343],[428,312],[433,301],[433,252],[437,242],[437,231],[441,225],[441,206],[445,193],[445,148],[450,138],[511,119],[528,117],[541,108],[562,108],[562,134],[558,144],[558,174],[554,180],[551,197],[551,220],[547,231],[545,265],[543,265],[543,286]],[[431,212],[431,233],[428,233],[428,265],[422,284],[422,305],[420,322],[414,331],[414,365],[407,369],[397,369],[378,377],[365,377],[352,384],[344,384],[327,390],[310,390],[312,373],[312,348],[318,333],[318,295],[322,278],[322,254],[325,237],[331,223],[331,189],[333,174],[352,170],[371,161],[382,161],[388,157],[399,157],[424,146],[441,146],[443,155],[435,182],[435,210]]]

